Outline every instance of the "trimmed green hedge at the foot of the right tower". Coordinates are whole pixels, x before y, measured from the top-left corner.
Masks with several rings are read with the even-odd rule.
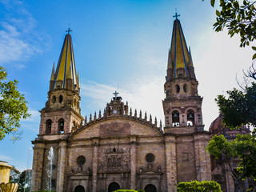
[[[221,186],[218,182],[214,181],[192,181],[192,182],[179,182],[177,186],[178,192],[222,192]]]

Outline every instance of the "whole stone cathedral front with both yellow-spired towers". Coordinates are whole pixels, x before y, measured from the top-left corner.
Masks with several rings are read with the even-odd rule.
[[[102,113],[83,118],[69,32],[50,76],[38,137],[32,142],[31,190],[171,192],[178,182],[212,180],[206,152],[210,132],[202,124],[202,97],[178,15],[162,77],[163,126],[141,111],[133,113],[117,92]]]

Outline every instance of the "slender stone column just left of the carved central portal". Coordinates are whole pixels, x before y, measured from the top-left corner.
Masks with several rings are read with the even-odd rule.
[[[97,191],[97,174],[98,174],[98,138],[93,139],[94,147],[94,158],[93,158],[93,190],[92,192]]]

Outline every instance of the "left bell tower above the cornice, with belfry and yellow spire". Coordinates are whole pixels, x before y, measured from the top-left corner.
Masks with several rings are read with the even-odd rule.
[[[50,76],[48,101],[41,112],[39,134],[69,134],[81,126],[80,86],[74,62],[70,28],[63,42],[56,70]]]

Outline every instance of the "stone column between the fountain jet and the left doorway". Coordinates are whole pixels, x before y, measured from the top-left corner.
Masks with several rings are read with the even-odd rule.
[[[58,169],[57,169],[57,186],[56,191],[65,190],[65,171],[66,171],[66,141],[58,144]]]

